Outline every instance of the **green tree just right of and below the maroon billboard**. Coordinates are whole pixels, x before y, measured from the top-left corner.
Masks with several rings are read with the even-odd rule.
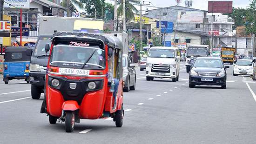
[[[233,13],[225,13],[224,15],[228,15],[233,20],[235,20],[235,25],[233,29],[236,29],[237,26],[244,26],[244,19],[246,17],[246,9],[244,8],[235,8],[233,7]]]

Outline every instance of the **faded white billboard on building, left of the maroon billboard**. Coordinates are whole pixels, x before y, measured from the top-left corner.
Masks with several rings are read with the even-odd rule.
[[[178,12],[177,22],[203,22],[203,12]]]

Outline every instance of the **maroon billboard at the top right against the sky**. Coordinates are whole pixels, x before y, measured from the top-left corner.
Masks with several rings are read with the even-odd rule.
[[[208,13],[232,13],[233,1],[208,1]]]

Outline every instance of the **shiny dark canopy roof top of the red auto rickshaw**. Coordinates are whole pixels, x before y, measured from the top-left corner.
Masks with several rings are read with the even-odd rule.
[[[71,36],[71,37],[84,37],[84,38],[94,38],[94,39],[101,39],[106,45],[114,48],[114,49],[122,49],[122,43],[121,40],[117,37],[112,37],[109,35],[104,34],[95,34],[95,33],[54,33],[53,38],[57,36]]]

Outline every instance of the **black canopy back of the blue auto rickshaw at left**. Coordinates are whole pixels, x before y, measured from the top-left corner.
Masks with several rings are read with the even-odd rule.
[[[5,49],[5,62],[8,61],[30,61],[31,56],[28,56],[26,51],[27,49],[30,49],[28,46],[8,46]],[[13,53],[21,53],[21,59],[12,59]]]

